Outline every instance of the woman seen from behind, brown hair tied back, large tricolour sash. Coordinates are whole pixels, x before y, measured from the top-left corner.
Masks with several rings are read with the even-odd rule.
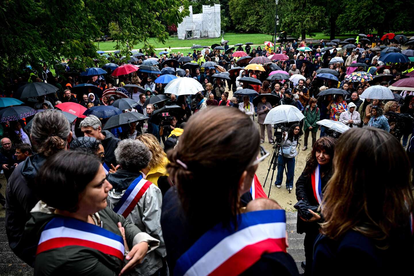
[[[191,116],[180,142],[167,153],[173,187],[163,198],[161,226],[170,274],[297,275],[282,241],[284,210],[241,214],[240,197],[267,156],[257,159],[257,126],[236,108],[204,112]],[[225,170],[228,164],[237,165]]]

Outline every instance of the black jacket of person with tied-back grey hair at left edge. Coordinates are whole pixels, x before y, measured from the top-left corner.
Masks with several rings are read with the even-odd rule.
[[[39,201],[35,194],[34,178],[46,161],[46,157],[36,154],[20,163],[12,175],[6,189],[6,233],[10,248],[27,264],[34,266],[37,243],[22,243],[24,226],[30,219],[30,211]]]

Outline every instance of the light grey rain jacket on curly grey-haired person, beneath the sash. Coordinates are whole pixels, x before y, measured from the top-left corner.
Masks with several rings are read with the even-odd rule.
[[[108,206],[113,209],[125,194],[129,185],[141,175],[128,170],[119,169],[116,173],[108,174],[107,179],[113,190],[108,193]],[[137,205],[132,209],[126,219],[134,223],[140,231],[151,235],[160,241],[159,247],[144,257],[142,264],[137,267],[136,275],[152,275],[162,267],[161,257],[166,256],[164,239],[161,230],[161,190],[152,183],[144,192]]]

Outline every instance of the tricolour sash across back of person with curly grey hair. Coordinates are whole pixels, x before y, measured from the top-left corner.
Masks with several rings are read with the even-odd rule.
[[[151,184],[152,182],[143,179],[142,175],[138,176],[132,181],[131,185],[125,191],[115,207],[113,207],[113,211],[126,218],[134,207],[137,206],[142,195],[147,191]]]

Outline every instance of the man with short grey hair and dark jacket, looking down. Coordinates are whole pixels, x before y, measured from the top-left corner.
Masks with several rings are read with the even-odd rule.
[[[95,115],[89,115],[87,118],[79,124],[80,130],[86,137],[94,137],[96,140],[100,140],[105,149],[105,164],[108,168],[110,166],[116,166],[116,158],[114,151],[118,146],[120,139],[113,136],[108,130],[102,130],[102,123]]]

